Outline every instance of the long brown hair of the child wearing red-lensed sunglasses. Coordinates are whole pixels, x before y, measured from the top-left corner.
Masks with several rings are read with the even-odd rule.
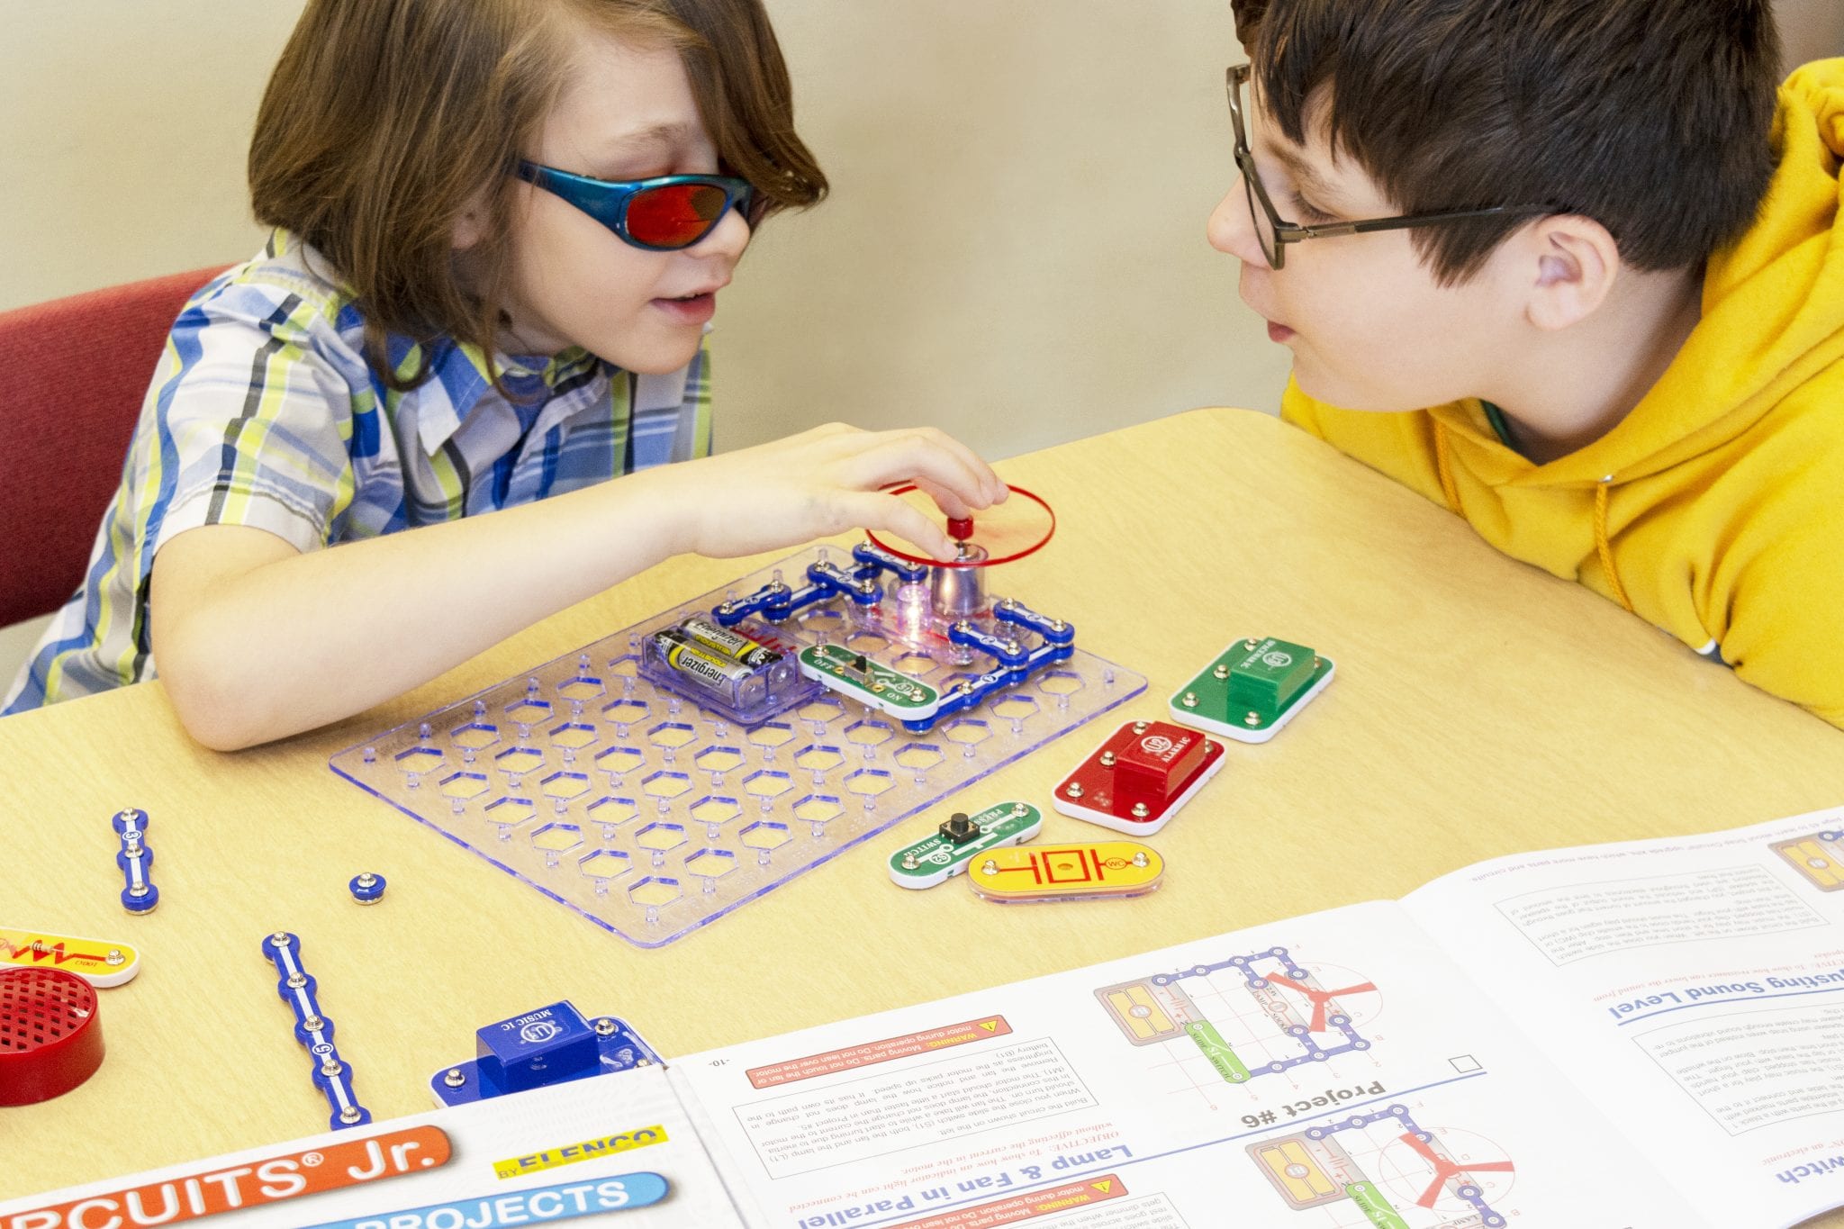
[[[393,370],[391,334],[494,354],[511,171],[562,90],[581,29],[570,18],[679,50],[719,170],[756,188],[751,221],[826,195],[760,0],[310,0],[256,114],[251,205],[332,262],[365,317],[367,359],[395,389],[428,376],[428,354]],[[478,201],[487,238],[470,251],[470,291],[452,236]]]

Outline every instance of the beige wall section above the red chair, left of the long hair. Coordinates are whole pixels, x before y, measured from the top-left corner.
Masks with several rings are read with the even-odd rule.
[[[256,249],[243,155],[299,0],[0,0],[0,308]]]

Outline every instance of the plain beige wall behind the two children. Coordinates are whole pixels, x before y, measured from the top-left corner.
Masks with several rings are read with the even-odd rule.
[[[1202,404],[1285,354],[1204,243],[1226,0],[769,0],[833,181],[719,308],[719,444],[826,418],[1009,455]],[[0,0],[0,308],[234,260],[299,0]]]

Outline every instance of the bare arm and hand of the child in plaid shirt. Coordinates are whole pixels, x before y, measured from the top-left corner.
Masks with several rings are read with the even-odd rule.
[[[396,696],[671,555],[885,529],[952,556],[940,527],[880,492],[902,481],[950,514],[1003,497],[992,470],[939,431],[830,426],[319,551],[201,525],[155,556],[155,660],[197,741],[253,746]]]

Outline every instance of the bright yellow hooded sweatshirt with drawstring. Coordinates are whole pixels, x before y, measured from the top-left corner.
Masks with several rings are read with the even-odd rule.
[[[1532,464],[1477,400],[1359,413],[1289,385],[1282,416],[1844,726],[1844,59],[1792,74],[1772,140],[1779,170],[1709,260],[1702,321],[1593,444]]]

